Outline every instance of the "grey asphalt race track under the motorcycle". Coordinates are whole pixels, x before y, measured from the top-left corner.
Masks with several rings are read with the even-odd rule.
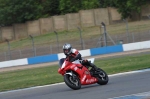
[[[64,83],[1,92],[0,99],[150,99],[150,69],[109,75],[107,85],[85,85],[72,90]],[[125,96],[125,97],[120,97]],[[114,98],[118,97],[118,98]]]

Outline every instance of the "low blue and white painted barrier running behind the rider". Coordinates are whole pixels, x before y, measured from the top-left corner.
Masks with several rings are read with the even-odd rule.
[[[147,49],[147,48],[150,48],[150,41],[91,48],[91,49],[86,49],[86,50],[80,50],[79,52],[82,54],[82,57],[87,57],[87,56],[103,55],[103,54],[133,51],[133,50],[140,50],[140,49]],[[50,54],[50,55],[37,56],[37,57],[29,57],[29,58],[10,60],[10,61],[3,61],[3,62],[0,62],[0,68],[40,64],[40,63],[46,63],[46,62],[55,62],[55,61],[60,60],[61,58],[65,58],[65,55],[63,53]]]

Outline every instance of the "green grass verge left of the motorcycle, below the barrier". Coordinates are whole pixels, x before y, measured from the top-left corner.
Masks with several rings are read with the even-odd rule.
[[[57,66],[27,69],[0,74],[0,90],[11,90],[62,81]]]

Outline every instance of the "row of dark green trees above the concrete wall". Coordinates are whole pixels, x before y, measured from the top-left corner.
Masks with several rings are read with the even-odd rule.
[[[106,7],[117,8],[122,18],[127,18],[132,11],[140,13],[141,7],[149,3],[149,0],[0,0],[0,26]]]

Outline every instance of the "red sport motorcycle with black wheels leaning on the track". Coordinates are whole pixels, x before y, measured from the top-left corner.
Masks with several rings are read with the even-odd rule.
[[[93,59],[89,59],[88,62],[93,63]],[[83,66],[82,61],[76,60],[70,62],[67,59],[62,64],[58,72],[63,75],[64,82],[68,87],[74,90],[81,88],[81,85],[89,85],[98,83],[100,85],[106,85],[108,83],[108,75],[100,68],[95,70],[89,66]]]

